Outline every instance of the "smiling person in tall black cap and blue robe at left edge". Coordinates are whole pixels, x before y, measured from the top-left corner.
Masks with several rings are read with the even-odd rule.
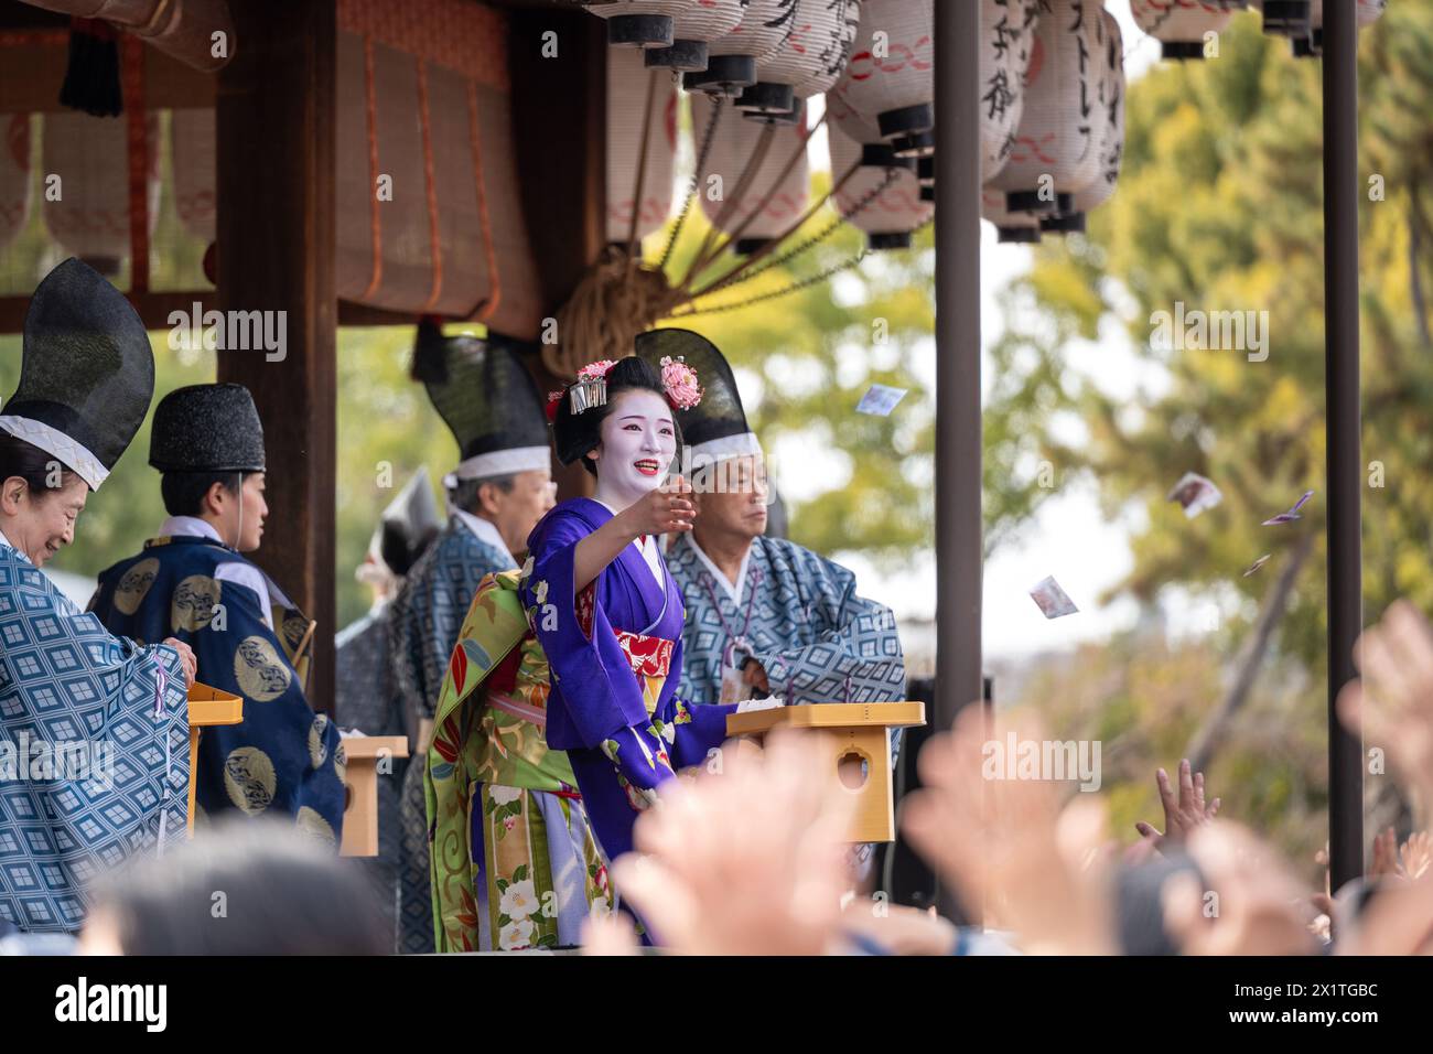
[[[21,931],[77,931],[95,876],[183,836],[193,655],[107,634],[39,569],[75,539],[153,384],[129,301],[77,260],[56,267],[0,409],[0,918]]]

